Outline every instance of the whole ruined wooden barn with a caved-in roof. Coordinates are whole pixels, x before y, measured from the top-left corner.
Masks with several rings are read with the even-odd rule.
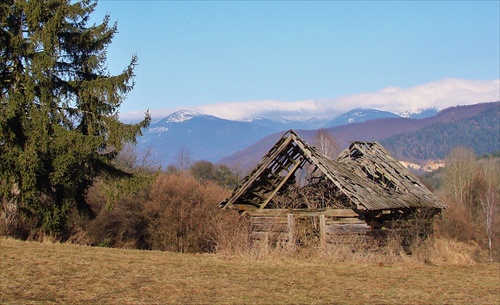
[[[220,207],[250,217],[253,240],[326,245],[427,234],[445,205],[377,142],[331,160],[289,130]]]

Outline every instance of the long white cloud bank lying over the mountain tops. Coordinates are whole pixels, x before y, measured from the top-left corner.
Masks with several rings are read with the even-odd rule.
[[[411,88],[387,87],[376,92],[342,96],[335,99],[301,101],[226,102],[186,107],[220,118],[241,120],[252,117],[309,119],[334,118],[354,108],[393,111],[420,108],[446,108],[500,100],[500,79],[492,81],[443,79]],[[154,120],[161,119],[177,108],[151,110]],[[121,119],[140,119],[144,112],[121,115]]]

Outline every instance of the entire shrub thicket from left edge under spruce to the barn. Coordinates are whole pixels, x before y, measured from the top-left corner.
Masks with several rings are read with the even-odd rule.
[[[127,176],[102,176],[86,197],[91,215],[69,211],[66,227],[47,231],[39,220],[18,214],[0,222],[1,235],[27,240],[50,238],[91,246],[175,252],[215,252],[226,230],[244,225],[237,213],[217,207],[238,177],[225,165],[194,162],[186,170],[160,171],[149,156],[126,148],[116,166]],[[222,234],[223,233],[223,234]]]

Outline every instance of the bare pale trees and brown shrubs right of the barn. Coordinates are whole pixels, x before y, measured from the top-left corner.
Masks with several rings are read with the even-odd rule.
[[[448,205],[437,221],[437,234],[473,243],[488,250],[491,261],[500,259],[500,158],[476,157],[459,146],[445,158],[446,167],[421,180]]]

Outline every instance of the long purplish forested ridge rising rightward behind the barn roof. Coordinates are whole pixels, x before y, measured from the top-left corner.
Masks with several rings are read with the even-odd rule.
[[[415,163],[443,159],[456,146],[474,148],[477,155],[500,150],[500,102],[456,106],[424,119],[384,118],[325,129],[341,149],[350,141],[379,141],[396,158]],[[317,130],[296,130],[314,144]],[[240,170],[255,166],[282,132],[219,161]]]

